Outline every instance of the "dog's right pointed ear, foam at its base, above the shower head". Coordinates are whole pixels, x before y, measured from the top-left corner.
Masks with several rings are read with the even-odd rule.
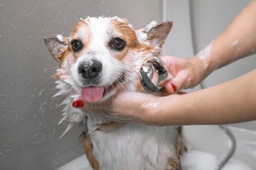
[[[173,22],[171,21],[165,21],[161,24],[158,24],[156,21],[152,21],[147,26],[140,28],[140,30],[136,30],[136,34],[138,35],[140,32],[146,33],[147,42],[161,48],[172,26]]]

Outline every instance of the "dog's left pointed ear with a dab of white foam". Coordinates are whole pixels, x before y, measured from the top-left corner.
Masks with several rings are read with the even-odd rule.
[[[45,41],[45,45],[52,54],[52,57],[60,62],[62,60],[61,54],[68,48],[69,38],[57,35],[53,37],[45,37],[43,38],[43,41]]]

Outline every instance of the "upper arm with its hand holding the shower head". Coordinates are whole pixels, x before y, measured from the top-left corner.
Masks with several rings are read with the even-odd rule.
[[[214,70],[255,52],[256,0],[249,3],[219,37],[194,57],[162,56],[170,75],[162,85],[171,94],[194,87]]]

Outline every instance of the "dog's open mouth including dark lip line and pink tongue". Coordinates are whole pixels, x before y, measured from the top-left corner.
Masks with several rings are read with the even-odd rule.
[[[81,91],[81,97],[85,102],[97,102],[102,99],[108,92],[110,92],[114,86],[124,81],[124,74],[121,74],[114,83],[108,86],[89,86],[83,87]]]

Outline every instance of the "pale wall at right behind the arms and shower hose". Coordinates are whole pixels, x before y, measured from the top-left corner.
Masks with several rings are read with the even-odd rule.
[[[198,50],[202,50],[214,38],[220,35],[250,1],[194,0]],[[193,56],[189,1],[164,0],[163,2],[164,19],[173,21],[173,28],[165,41],[163,54],[173,55],[175,57]],[[204,84],[206,87],[221,84],[255,68],[256,54],[214,71],[204,80]],[[196,91],[198,89],[200,89],[199,86],[190,91]],[[232,126],[256,130],[256,121],[236,123]]]

